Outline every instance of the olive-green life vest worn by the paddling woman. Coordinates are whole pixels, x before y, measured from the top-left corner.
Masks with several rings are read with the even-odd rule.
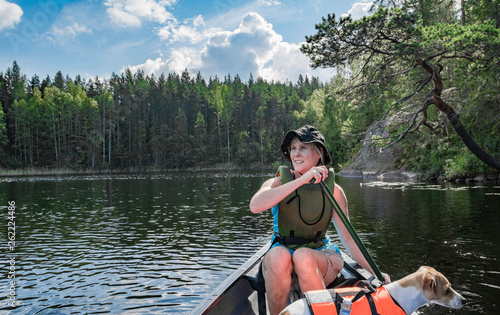
[[[280,185],[294,180],[289,167],[278,170]],[[328,172],[325,184],[335,189],[335,173]],[[290,249],[325,246],[324,238],[333,215],[333,207],[327,201],[319,184],[306,184],[285,197],[278,205],[278,231],[275,240]]]

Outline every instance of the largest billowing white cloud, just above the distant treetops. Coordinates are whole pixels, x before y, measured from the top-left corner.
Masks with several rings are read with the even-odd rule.
[[[174,33],[169,36],[172,38]],[[181,73],[187,68],[190,73],[200,71],[205,77],[238,74],[245,79],[252,73],[254,77],[269,81],[294,82],[302,74],[329,80],[332,70],[309,68],[310,61],[300,52],[300,45],[284,42],[272,24],[250,12],[233,31],[219,30],[195,47],[172,48],[168,59],[148,59],[144,64],[128,68],[133,72],[141,69],[156,76],[162,72]]]

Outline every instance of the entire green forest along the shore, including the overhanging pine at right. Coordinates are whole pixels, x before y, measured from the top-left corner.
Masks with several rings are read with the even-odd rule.
[[[400,168],[449,178],[498,172],[454,131],[500,158],[500,2],[375,3],[358,21],[328,14],[306,37],[302,52],[312,67],[335,69],[330,82],[188,70],[88,80],[59,71],[41,80],[13,61],[0,72],[0,167],[269,167],[283,161],[284,134],[307,123],[342,168],[368,130],[397,116],[372,146],[401,146]]]

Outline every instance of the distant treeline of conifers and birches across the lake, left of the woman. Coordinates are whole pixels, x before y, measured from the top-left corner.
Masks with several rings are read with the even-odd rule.
[[[284,133],[322,85],[236,75],[206,81],[130,70],[85,82],[58,72],[27,79],[14,61],[0,73],[3,168],[174,169],[276,161]]]

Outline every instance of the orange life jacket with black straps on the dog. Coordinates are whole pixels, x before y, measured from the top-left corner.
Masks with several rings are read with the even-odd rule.
[[[304,295],[314,315],[406,315],[384,287],[316,290]]]

